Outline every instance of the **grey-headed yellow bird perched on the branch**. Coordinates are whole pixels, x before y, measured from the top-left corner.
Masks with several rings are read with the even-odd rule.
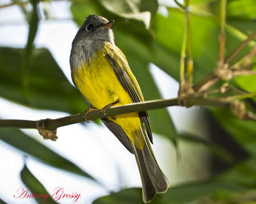
[[[70,66],[73,83],[90,108],[104,110],[144,101],[141,88],[125,54],[115,45],[114,20],[89,15],[72,42]],[[143,202],[165,193],[168,180],[156,162],[146,111],[101,118],[117,139],[134,154],[142,181]]]

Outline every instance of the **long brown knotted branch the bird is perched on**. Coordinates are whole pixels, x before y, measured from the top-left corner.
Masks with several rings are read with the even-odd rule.
[[[192,107],[193,105],[201,105],[201,106],[212,106],[218,108],[226,108],[230,109],[237,117],[245,120],[255,120],[256,116],[254,113],[246,112],[244,109],[245,105],[242,106],[243,110],[241,111],[241,105],[235,105],[234,102],[225,101],[225,100],[216,100],[216,99],[208,99],[201,96],[188,96],[185,97],[184,104],[187,104],[187,107]],[[240,103],[242,104],[242,102]],[[159,109],[166,108],[170,106],[179,105],[179,99],[159,99],[159,100],[150,100],[143,101],[141,103],[133,103],[127,105],[119,105],[115,107],[106,108],[104,113],[100,109],[90,109],[88,112],[82,114],[74,114],[67,117],[57,118],[57,119],[44,119],[38,121],[30,121],[30,120],[0,120],[0,128],[1,127],[13,127],[13,128],[34,128],[38,129],[39,133],[43,135],[44,139],[51,139],[52,141],[56,141],[56,130],[59,127],[72,125],[79,122],[89,120],[96,120],[97,118],[106,118],[106,117],[114,117],[117,114],[125,114],[132,112],[141,112],[147,111],[151,109]],[[240,114],[242,112],[242,115]]]

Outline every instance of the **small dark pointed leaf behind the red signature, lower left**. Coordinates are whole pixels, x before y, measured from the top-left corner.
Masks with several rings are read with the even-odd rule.
[[[38,196],[34,196],[37,203],[56,203],[53,201],[47,190],[44,186],[36,179],[34,175],[28,170],[27,166],[24,165],[22,171],[20,172],[20,177],[23,183],[29,189],[29,194],[34,194]],[[26,189],[24,189],[25,191]],[[19,195],[17,195],[19,196]],[[30,199],[30,198],[27,198]]]

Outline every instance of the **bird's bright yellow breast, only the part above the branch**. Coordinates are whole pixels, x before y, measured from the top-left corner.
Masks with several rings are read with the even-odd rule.
[[[101,109],[117,100],[116,105],[133,103],[101,50],[94,54],[90,63],[81,65],[73,78],[82,95],[95,108]]]

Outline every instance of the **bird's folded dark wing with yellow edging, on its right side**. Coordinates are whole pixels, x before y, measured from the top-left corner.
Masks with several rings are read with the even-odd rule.
[[[104,54],[106,59],[108,59],[110,65],[113,67],[115,75],[117,76],[119,82],[130,95],[131,100],[133,100],[134,103],[144,101],[141,88],[139,87],[137,79],[131,72],[126,57],[121,52],[121,50],[113,44],[106,43],[104,46]],[[141,118],[146,128],[148,139],[150,139],[150,142],[153,143],[147,112],[139,112],[139,117]]]

